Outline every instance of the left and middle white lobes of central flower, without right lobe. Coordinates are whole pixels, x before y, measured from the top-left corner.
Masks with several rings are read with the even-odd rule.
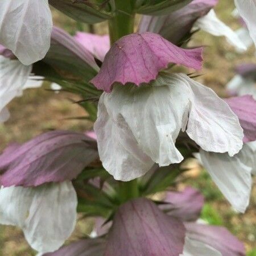
[[[94,131],[102,163],[115,179],[139,177],[153,162],[183,160],[175,141],[188,119],[188,88],[175,77],[167,80],[139,88],[118,85],[102,94]]]

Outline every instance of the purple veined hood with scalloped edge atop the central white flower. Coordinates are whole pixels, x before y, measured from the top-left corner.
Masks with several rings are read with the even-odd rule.
[[[150,32],[123,36],[110,48],[100,72],[91,82],[98,89],[111,92],[114,82],[140,85],[155,80],[159,71],[171,63],[200,69],[202,51],[202,48],[179,48]]]

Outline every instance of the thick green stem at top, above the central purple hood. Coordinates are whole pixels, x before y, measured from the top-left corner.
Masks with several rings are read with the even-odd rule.
[[[109,20],[110,42],[113,44],[122,36],[134,32],[135,14],[131,0],[115,0],[116,14]]]

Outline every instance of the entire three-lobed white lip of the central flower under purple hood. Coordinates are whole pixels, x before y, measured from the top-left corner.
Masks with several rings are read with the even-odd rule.
[[[115,85],[103,93],[94,125],[102,164],[117,180],[145,174],[154,163],[168,166],[183,156],[175,147],[180,130],[201,148],[237,154],[243,131],[237,116],[213,90],[184,74],[164,74],[148,85]]]

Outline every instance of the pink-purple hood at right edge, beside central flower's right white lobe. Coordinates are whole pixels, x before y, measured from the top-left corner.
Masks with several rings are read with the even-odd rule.
[[[239,118],[240,125],[243,128],[243,142],[256,140],[256,101],[252,96],[245,95],[241,97],[226,98],[230,108]]]

